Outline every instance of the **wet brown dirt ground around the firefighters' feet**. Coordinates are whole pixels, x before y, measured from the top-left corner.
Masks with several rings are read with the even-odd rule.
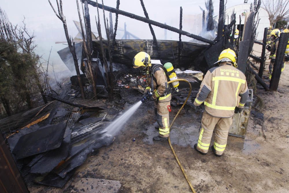
[[[268,76],[267,72],[264,76]],[[278,92],[267,92],[257,85],[257,95],[264,102],[264,120],[251,115],[246,138],[229,136],[221,157],[212,151],[201,155],[193,149],[202,114],[185,106],[175,121],[171,141],[197,192],[289,191],[288,83],[289,66],[281,74]],[[141,98],[137,91],[134,93]],[[178,109],[173,108],[170,120]],[[152,141],[158,135],[155,124],[152,102],[141,106],[114,143],[88,157],[63,189],[29,183],[29,190],[76,192],[73,183],[81,177],[120,181],[119,192],[190,192],[168,142]]]

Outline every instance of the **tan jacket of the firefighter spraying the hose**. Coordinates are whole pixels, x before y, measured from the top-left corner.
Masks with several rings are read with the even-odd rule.
[[[151,73],[152,71],[152,73]],[[171,96],[171,92],[168,86],[168,79],[164,69],[152,64],[151,69],[147,70],[147,85],[145,92],[153,90],[153,99],[159,98],[159,100],[164,100]],[[153,78],[153,88],[151,88],[151,79]]]

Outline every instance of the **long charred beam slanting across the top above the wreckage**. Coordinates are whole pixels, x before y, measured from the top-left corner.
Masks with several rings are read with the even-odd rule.
[[[84,2],[84,1],[85,0],[81,0],[81,2]],[[97,3],[94,2],[94,1],[87,0],[87,3],[92,5],[93,7],[97,7]],[[162,24],[160,22],[153,21],[151,19],[144,18],[144,17],[138,16],[138,15],[135,15],[135,14],[132,14],[132,13],[129,13],[129,12],[118,10],[118,9],[115,9],[115,8],[112,8],[112,7],[108,7],[108,6],[105,6],[105,5],[102,6],[100,3],[98,3],[98,8],[104,9],[106,11],[110,11],[112,13],[120,14],[120,15],[129,17],[129,18],[132,18],[132,19],[136,19],[136,20],[142,21],[144,23],[148,23],[148,24],[151,24],[151,25],[163,28],[163,29],[167,29],[167,30],[170,30],[170,31],[173,31],[173,32],[176,32],[176,33],[180,33],[181,35],[188,36],[190,38],[199,40],[201,42],[205,42],[205,43],[208,43],[208,44],[214,44],[215,43],[214,41],[208,40],[208,39],[203,38],[203,37],[201,37],[199,35],[194,35],[192,33],[189,33],[189,32],[183,31],[183,30],[179,30],[179,29],[177,29],[175,27],[171,27],[169,25]]]

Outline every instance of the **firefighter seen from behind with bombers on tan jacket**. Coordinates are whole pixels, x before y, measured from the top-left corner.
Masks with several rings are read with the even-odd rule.
[[[211,149],[216,156],[221,156],[227,145],[232,116],[234,112],[242,111],[249,98],[249,90],[245,75],[236,68],[236,53],[233,50],[223,50],[216,63],[219,66],[208,70],[194,101],[195,106],[205,104],[199,140],[194,149],[205,155],[215,130]]]

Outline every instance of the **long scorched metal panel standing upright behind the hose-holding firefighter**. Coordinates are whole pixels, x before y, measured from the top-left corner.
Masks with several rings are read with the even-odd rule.
[[[106,57],[109,58],[107,44],[107,40],[103,40]],[[131,67],[134,56],[141,51],[147,52],[151,56],[151,59],[159,59],[153,40],[116,40],[115,44],[113,62]],[[194,65],[193,61],[195,57],[197,57],[208,44],[181,42],[180,63],[178,63],[179,41],[158,40],[158,46],[160,47],[163,62],[171,62],[175,68],[180,68]],[[93,50],[92,57],[96,58],[97,53],[101,52],[99,40],[93,41]]]

